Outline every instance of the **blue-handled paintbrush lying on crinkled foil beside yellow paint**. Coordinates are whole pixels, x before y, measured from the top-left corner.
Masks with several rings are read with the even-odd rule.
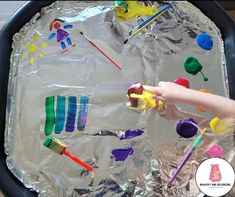
[[[147,27],[150,23],[152,23],[156,18],[158,18],[159,16],[161,16],[162,14],[164,14],[170,7],[172,7],[173,3],[170,3],[168,5],[166,5],[165,7],[163,7],[159,12],[157,12],[156,14],[154,14],[153,16],[147,18],[145,21],[143,21],[142,23],[138,24],[134,29],[132,29],[129,32],[129,37],[124,41],[124,44],[126,44],[128,42],[128,40],[130,38],[132,38],[134,35],[138,34],[142,29],[144,29],[145,27]]]

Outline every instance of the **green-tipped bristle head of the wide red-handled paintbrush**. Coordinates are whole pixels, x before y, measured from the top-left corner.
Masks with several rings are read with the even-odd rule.
[[[58,154],[63,154],[63,151],[66,149],[66,145],[54,137],[48,137],[43,145]]]

